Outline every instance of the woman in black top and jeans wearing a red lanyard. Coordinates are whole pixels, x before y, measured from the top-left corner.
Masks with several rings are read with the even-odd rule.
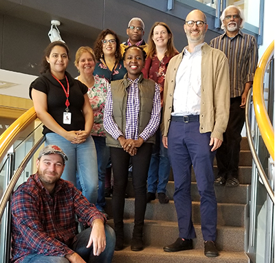
[[[90,203],[96,203],[96,148],[90,136],[94,114],[87,87],[67,73],[69,49],[63,42],[45,49],[41,77],[30,84],[30,98],[44,124],[45,144],[61,147],[69,161],[62,178],[71,181]]]

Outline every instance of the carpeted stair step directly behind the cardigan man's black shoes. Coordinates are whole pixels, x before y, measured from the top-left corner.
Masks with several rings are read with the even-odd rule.
[[[108,220],[108,225],[113,227],[113,220]],[[201,226],[195,224],[197,238],[193,240],[195,249],[203,249]],[[130,244],[133,233],[133,219],[124,219],[124,243]],[[217,227],[216,245],[219,251],[244,251],[244,227]],[[145,220],[144,245],[162,249],[172,244],[179,236],[177,222],[162,220]],[[172,254],[171,254],[172,255]]]

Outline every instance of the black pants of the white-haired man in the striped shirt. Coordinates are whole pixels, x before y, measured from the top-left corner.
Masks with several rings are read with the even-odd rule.
[[[241,130],[245,122],[245,108],[241,108],[241,97],[230,99],[228,127],[223,133],[223,144],[217,150],[219,175],[238,178],[239,156],[241,149]]]

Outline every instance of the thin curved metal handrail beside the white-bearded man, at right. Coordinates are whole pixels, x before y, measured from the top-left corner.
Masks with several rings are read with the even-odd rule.
[[[261,164],[261,161],[256,153],[256,149],[254,146],[254,141],[252,139],[252,133],[251,133],[251,126],[250,126],[250,120],[249,120],[249,113],[250,113],[250,98],[252,94],[252,89],[248,91],[248,97],[247,97],[247,102],[245,105],[245,128],[248,133],[248,144],[250,146],[252,158],[254,160],[254,163],[256,165],[256,168],[258,169],[259,175],[263,181],[263,185],[265,185],[265,189],[267,190],[267,194],[270,196],[272,202],[274,203],[274,191],[272,190],[272,187],[270,185],[270,182],[267,179],[267,176],[265,174],[265,170],[263,170],[263,165]]]

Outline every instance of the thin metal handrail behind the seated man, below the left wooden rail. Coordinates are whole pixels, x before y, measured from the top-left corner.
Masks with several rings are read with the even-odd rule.
[[[45,136],[41,137],[39,141],[36,142],[36,144],[32,147],[30,152],[28,152],[28,154],[25,156],[25,158],[19,165],[19,168],[17,168],[16,172],[12,176],[12,179],[10,180],[8,187],[5,189],[5,192],[3,193],[3,196],[0,201],[0,218],[2,218],[3,216],[5,205],[7,205],[10,199],[10,196],[14,190],[14,186],[17,184],[17,181],[19,180],[23,170],[27,166],[30,159],[32,159],[34,153],[39,149],[39,147],[41,146],[41,144],[43,144],[44,141],[45,141]]]

